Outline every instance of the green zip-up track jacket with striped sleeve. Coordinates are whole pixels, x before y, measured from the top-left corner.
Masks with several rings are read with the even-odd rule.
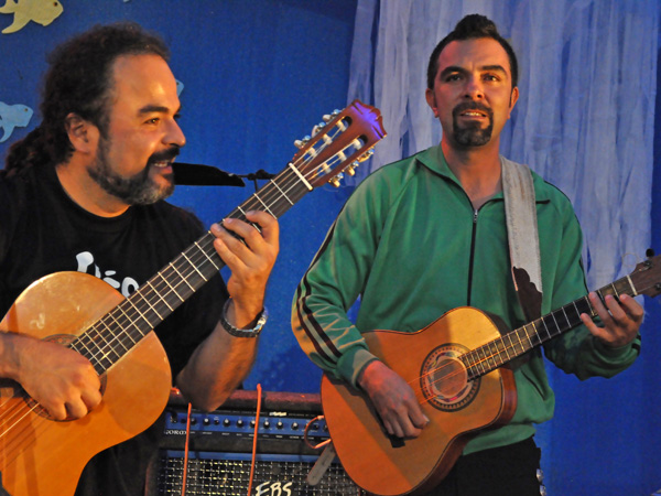
[[[539,224],[542,314],[587,293],[582,233],[567,197],[533,174]],[[347,312],[360,299],[356,323]],[[502,194],[475,212],[441,147],[386,165],[351,195],[297,288],[292,326],[303,351],[355,385],[375,359],[360,331],[415,332],[457,306],[525,324],[511,277]],[[613,349],[579,326],[546,343],[545,356],[585,379],[609,377],[640,343]],[[405,355],[405,349],[402,349]],[[464,453],[521,441],[553,416],[542,353],[514,371],[518,406],[508,425],[483,431]]]

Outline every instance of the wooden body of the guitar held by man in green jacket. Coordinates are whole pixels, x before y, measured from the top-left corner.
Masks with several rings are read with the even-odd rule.
[[[467,380],[456,358],[498,336],[489,316],[470,308],[452,310],[415,333],[365,333],[370,352],[413,388],[430,423],[420,438],[398,443],[364,392],[324,375],[324,416],[349,477],[377,495],[424,492],[447,475],[477,431],[507,423],[517,403],[511,370]]]

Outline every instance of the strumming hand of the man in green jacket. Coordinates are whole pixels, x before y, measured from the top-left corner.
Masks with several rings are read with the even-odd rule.
[[[411,386],[382,362],[368,364],[358,377],[358,385],[369,396],[390,435],[418,438],[430,422]]]

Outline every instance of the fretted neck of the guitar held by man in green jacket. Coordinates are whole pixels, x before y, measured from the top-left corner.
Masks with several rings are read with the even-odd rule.
[[[639,294],[629,276],[602,288],[596,293],[602,301],[608,294],[616,298],[622,294],[630,296]],[[529,351],[541,346],[548,341],[581,325],[583,323],[581,321],[582,313],[586,313],[593,319],[597,316],[587,296],[579,298],[559,310],[462,355],[460,359],[466,366],[468,378],[475,379],[484,376]]]

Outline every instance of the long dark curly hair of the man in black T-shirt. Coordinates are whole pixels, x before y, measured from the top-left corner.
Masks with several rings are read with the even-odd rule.
[[[40,106],[42,122],[12,144],[4,171],[68,160],[74,149],[65,119],[72,112],[93,122],[106,136],[113,63],[122,55],[144,54],[170,58],[163,40],[132,22],[97,25],[58,45],[47,58],[50,68]]]

